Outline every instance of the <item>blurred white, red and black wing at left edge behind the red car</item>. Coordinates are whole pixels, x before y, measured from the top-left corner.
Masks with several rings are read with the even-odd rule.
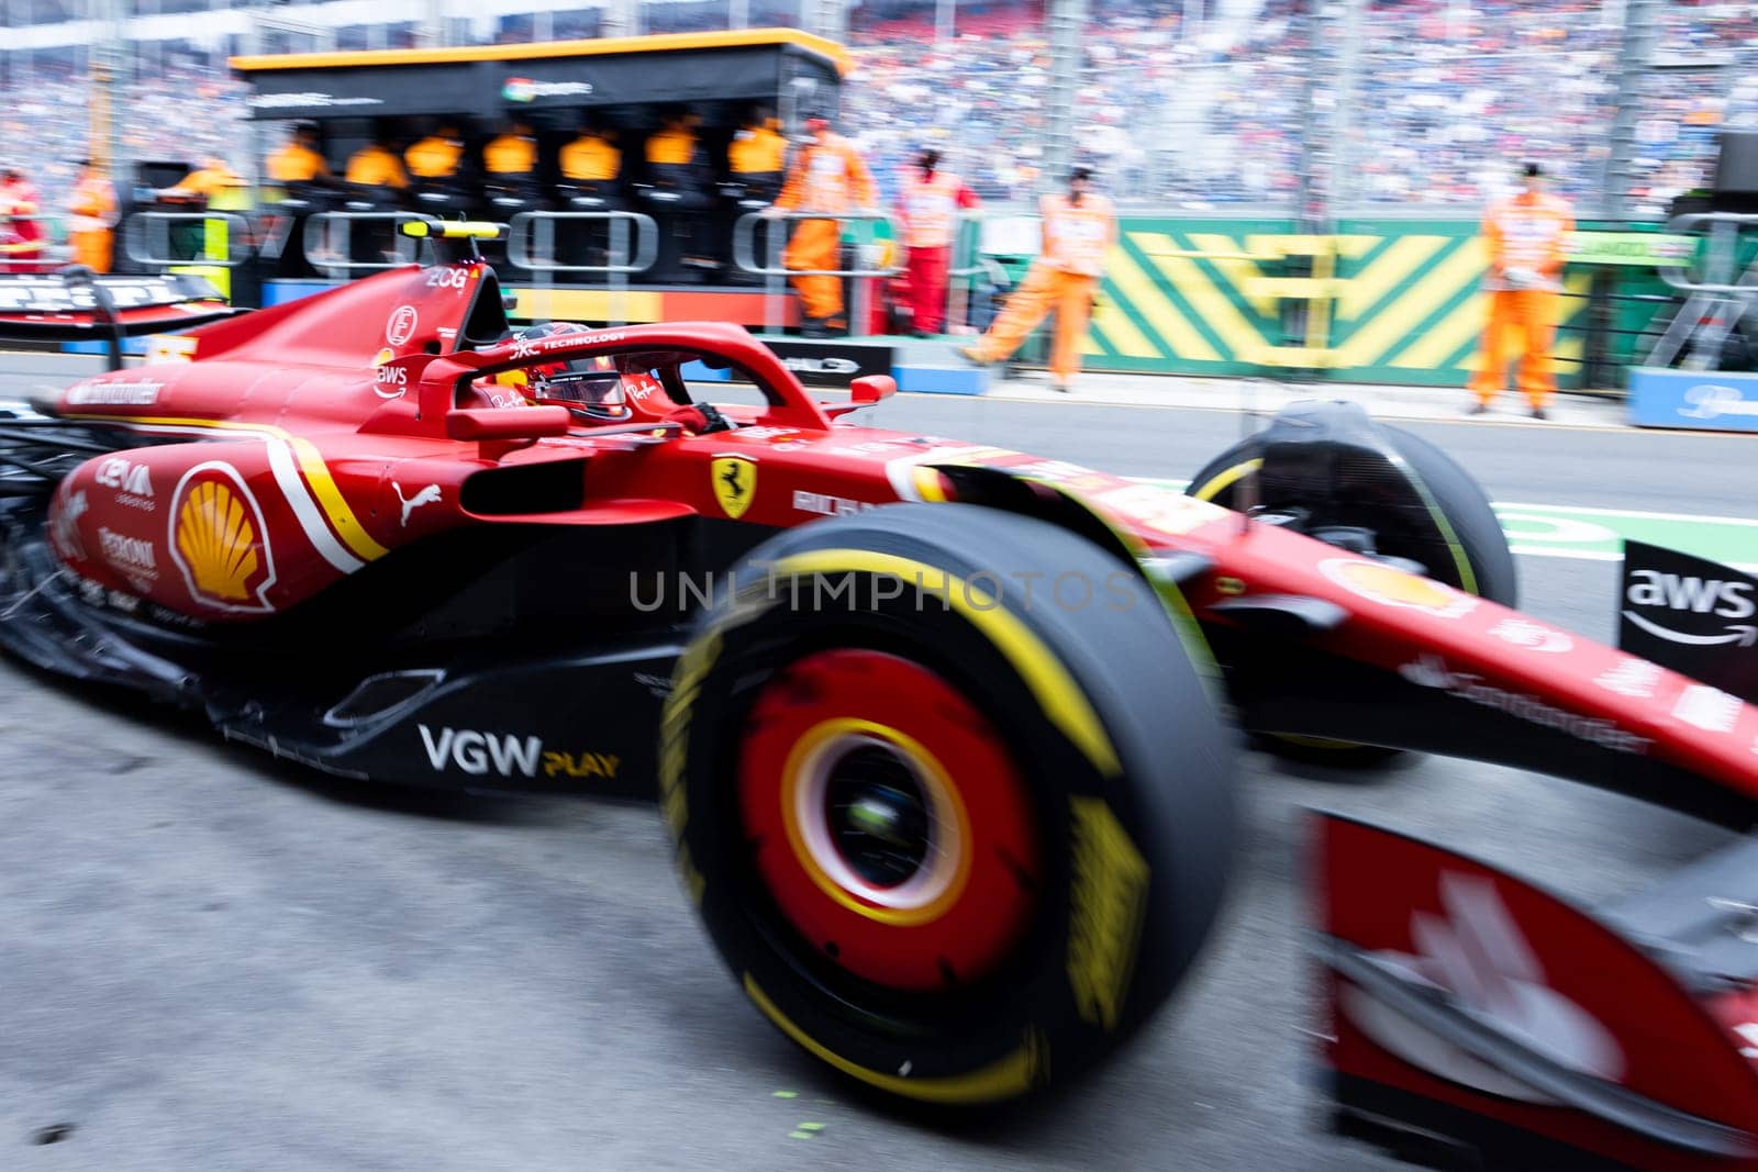
[[[121,369],[121,343],[229,318],[239,309],[192,272],[95,276],[74,265],[53,274],[0,274],[0,339],[102,341]]]

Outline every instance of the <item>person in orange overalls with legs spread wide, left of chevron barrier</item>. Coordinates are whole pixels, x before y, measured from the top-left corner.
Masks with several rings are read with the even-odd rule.
[[[1042,251],[993,325],[976,344],[958,353],[977,365],[999,362],[1018,350],[1037,323],[1055,311],[1050,374],[1057,390],[1067,394],[1079,371],[1081,339],[1104,274],[1104,255],[1116,244],[1116,213],[1111,200],[1092,192],[1088,167],[1069,172],[1067,195],[1046,195],[1037,207],[1042,216]]]

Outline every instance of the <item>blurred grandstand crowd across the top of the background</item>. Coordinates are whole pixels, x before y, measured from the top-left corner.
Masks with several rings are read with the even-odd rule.
[[[109,109],[118,162],[220,155],[253,176],[236,53],[795,26],[853,46],[844,130],[888,195],[925,142],[992,202],[1039,190],[1058,46],[1078,42],[1072,155],[1125,204],[1464,211],[1531,155],[1584,211],[1642,218],[1702,184],[1758,95],[1754,4],[1086,0],[1053,5],[1060,30],[1034,0],[540,4],[0,0],[0,162],[62,206]]]

